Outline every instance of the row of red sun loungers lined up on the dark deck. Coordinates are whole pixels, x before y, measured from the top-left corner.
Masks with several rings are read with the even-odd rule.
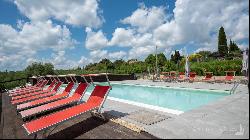
[[[39,131],[43,131],[49,127],[58,125],[61,122],[74,118],[88,111],[98,110],[98,112],[100,112],[109,90],[111,89],[110,84],[108,86],[95,85],[94,90],[92,91],[88,100],[86,102],[81,102],[81,99],[89,87],[89,83],[87,81],[85,81],[85,83],[79,83],[72,96],[70,96],[70,91],[77,83],[74,83],[74,81],[69,82],[64,91],[60,94],[56,94],[56,92],[62,83],[57,81],[55,82],[56,84],[54,84],[54,86],[51,86],[53,83],[54,81],[49,86],[52,87],[51,91],[48,91],[47,88],[46,90],[43,90],[46,92],[33,92],[33,95],[32,93],[28,93],[29,96],[24,96],[27,94],[23,94],[23,96],[20,95],[22,97],[17,96],[19,98],[13,99],[11,101],[13,105],[17,105],[17,111],[21,114],[23,119],[27,119],[31,116],[35,116],[44,112],[53,111],[66,105],[73,105],[67,109],[53,112],[52,114],[43,116],[36,120],[31,120],[23,124],[23,127],[29,135],[35,134],[36,136]]]

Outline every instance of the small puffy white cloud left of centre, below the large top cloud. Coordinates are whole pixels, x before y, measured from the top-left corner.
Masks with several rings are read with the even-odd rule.
[[[87,37],[85,47],[89,50],[97,50],[108,45],[108,40],[101,30],[94,32],[91,28],[86,28]]]

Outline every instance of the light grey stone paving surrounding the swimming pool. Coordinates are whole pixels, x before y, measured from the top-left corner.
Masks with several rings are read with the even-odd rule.
[[[128,80],[114,83],[217,90],[230,90],[233,86],[233,84],[224,83],[168,83],[149,80]],[[111,100],[107,101],[104,110],[113,111],[114,115],[143,127],[146,132],[159,138],[249,138],[249,92],[247,85],[242,84],[236,89],[235,94],[184,112],[181,115],[173,115]],[[152,125],[145,125],[129,117],[129,114],[142,110],[147,110],[152,114],[170,116],[171,118]]]

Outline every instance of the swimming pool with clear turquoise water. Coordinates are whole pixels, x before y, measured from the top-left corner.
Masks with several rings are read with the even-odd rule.
[[[87,93],[91,93],[90,86]],[[127,103],[185,112],[229,95],[228,91],[112,84],[108,98]],[[176,113],[178,114],[178,113]]]

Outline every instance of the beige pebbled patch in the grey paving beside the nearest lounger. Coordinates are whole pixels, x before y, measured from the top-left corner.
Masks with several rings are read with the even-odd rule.
[[[161,114],[157,114],[157,113],[149,112],[145,110],[132,112],[127,117],[129,119],[132,119],[134,121],[137,121],[145,125],[152,125],[160,121],[171,118],[170,116],[161,115]]]

